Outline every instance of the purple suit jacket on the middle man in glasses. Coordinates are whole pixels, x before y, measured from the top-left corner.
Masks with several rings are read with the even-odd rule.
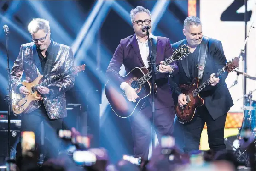
[[[170,44],[170,40],[165,37],[157,36],[157,57],[156,66],[160,64],[160,61],[164,61],[165,58],[169,58],[173,54],[173,49]],[[120,44],[116,48],[116,51],[110,61],[110,64],[106,71],[106,76],[120,85],[124,80],[119,75],[120,67],[122,64],[125,67],[126,73],[129,73],[135,67],[145,67],[141,55],[139,45],[135,34],[120,41]],[[179,69],[175,61],[171,63],[174,67],[175,75]],[[155,77],[155,83],[157,84],[157,93],[155,94],[155,108],[162,109],[174,106],[171,89],[168,83],[168,77],[170,74],[157,73]],[[150,100],[151,103],[151,100]]]

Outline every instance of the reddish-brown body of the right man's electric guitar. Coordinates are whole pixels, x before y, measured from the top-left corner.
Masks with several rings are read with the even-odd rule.
[[[198,77],[195,77],[189,86],[185,84],[180,84],[179,87],[182,93],[187,96],[188,94],[192,93],[193,90],[198,88],[198,83],[199,79]],[[187,103],[187,105],[184,105],[183,108],[181,108],[179,104],[175,106],[176,116],[179,118],[180,122],[183,123],[191,121],[195,115],[196,108],[198,106],[204,105],[204,100],[199,95],[193,97],[193,95],[190,94],[189,99],[190,101]]]

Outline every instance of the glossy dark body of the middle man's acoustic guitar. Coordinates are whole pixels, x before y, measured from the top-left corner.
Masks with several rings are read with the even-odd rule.
[[[122,78],[129,85],[134,85],[141,77],[145,76],[149,71],[145,67],[134,68],[126,76]],[[122,118],[127,118],[131,116],[135,111],[136,113],[140,111],[143,106],[147,96],[150,96],[152,87],[151,82],[147,81],[142,86],[138,85],[136,93],[139,98],[136,99],[136,102],[128,101],[125,92],[119,87],[120,85],[115,85],[113,82],[108,81],[105,86],[105,94],[111,105],[112,110],[116,113],[117,116]],[[134,87],[134,86],[133,86]],[[157,92],[157,85],[154,83],[154,93]]]

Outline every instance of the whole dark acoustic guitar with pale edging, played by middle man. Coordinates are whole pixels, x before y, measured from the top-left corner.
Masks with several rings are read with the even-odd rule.
[[[183,56],[189,54],[189,47],[183,44],[178,50],[176,50],[171,57],[165,59],[162,65],[168,65],[172,61],[179,60]],[[156,67],[157,72],[159,71],[159,66]],[[125,92],[112,81],[108,81],[105,85],[105,95],[111,105],[112,110],[116,113],[117,116],[122,118],[127,118],[131,116],[135,110],[139,111],[142,105],[145,102],[145,97],[151,94],[151,91],[154,93],[157,92],[157,85],[154,83],[154,88],[150,79],[152,77],[152,72],[145,67],[134,68],[127,75],[122,78],[126,83],[128,83],[132,88],[135,89],[139,98],[136,99],[136,102],[128,101]]]

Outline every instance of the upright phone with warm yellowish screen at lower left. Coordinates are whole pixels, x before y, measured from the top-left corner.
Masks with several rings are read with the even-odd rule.
[[[21,148],[22,155],[31,155],[31,151],[35,150],[35,133],[32,131],[21,132]]]

